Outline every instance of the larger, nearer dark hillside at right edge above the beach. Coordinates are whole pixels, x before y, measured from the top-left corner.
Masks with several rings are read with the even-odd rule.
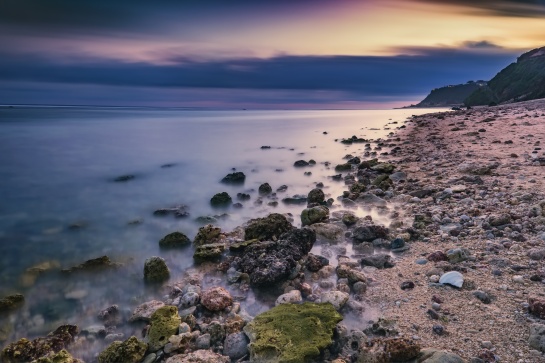
[[[469,95],[466,106],[529,101],[545,97],[545,47],[531,50]]]

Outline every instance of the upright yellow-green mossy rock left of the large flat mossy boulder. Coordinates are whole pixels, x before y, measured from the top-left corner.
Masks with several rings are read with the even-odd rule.
[[[176,306],[166,305],[157,309],[150,319],[147,340],[149,350],[156,352],[168,343],[168,338],[178,332],[182,322]]]

